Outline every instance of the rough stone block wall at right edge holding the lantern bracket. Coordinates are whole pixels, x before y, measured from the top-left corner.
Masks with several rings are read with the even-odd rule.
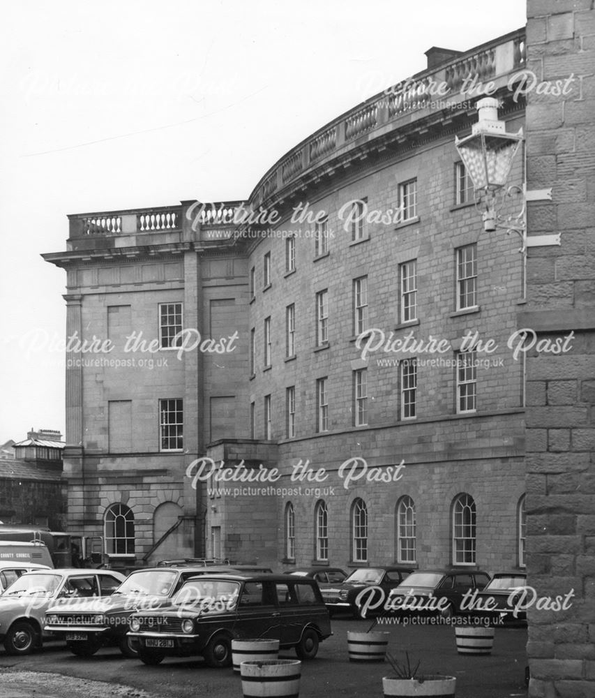
[[[529,695],[595,695],[595,11],[589,1],[529,0],[527,186],[530,235],[561,233],[531,250],[527,307],[541,352],[527,359],[527,571],[558,610],[529,609]],[[547,341],[571,336],[554,354]]]

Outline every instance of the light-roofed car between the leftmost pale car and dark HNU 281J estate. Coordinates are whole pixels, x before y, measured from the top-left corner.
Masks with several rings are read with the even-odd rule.
[[[81,600],[68,608],[48,609],[45,630],[64,637],[70,651],[78,657],[90,657],[107,645],[119,646],[126,657],[137,657],[136,648],[126,635],[128,616],[137,609],[158,609],[169,604],[186,579],[213,572],[238,574],[228,565],[191,567],[186,563],[135,570],[101,602]]]

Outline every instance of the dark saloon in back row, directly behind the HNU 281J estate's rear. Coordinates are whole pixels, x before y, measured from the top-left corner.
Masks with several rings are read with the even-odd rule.
[[[388,595],[411,572],[411,567],[402,565],[379,565],[377,567],[359,567],[341,584],[333,584],[324,589],[322,597],[331,613],[333,611],[351,611],[355,618],[361,618],[356,598],[366,587],[378,587],[377,595]],[[382,591],[380,591],[382,590]]]

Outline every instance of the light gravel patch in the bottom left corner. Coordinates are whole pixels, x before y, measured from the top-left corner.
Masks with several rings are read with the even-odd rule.
[[[155,698],[120,683],[43,674],[37,671],[0,671],[0,698]]]

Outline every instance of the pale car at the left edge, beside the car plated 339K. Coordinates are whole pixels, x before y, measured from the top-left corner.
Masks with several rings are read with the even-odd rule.
[[[25,655],[42,645],[44,617],[57,602],[109,596],[124,581],[114,570],[36,570],[27,572],[0,596],[0,641],[11,655]]]

